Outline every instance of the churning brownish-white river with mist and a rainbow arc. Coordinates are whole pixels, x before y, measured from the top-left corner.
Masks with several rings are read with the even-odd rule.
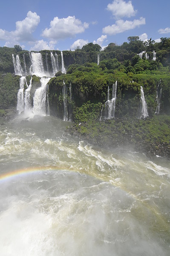
[[[169,256],[170,161],[52,116],[0,120],[1,256]]]

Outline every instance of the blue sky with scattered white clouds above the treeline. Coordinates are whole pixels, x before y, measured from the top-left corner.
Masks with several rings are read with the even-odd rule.
[[[121,45],[128,36],[170,37],[169,0],[4,0],[0,46],[76,49],[93,42]]]

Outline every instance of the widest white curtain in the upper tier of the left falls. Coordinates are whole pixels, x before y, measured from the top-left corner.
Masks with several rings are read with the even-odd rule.
[[[30,73],[40,77],[46,76],[47,74],[44,72],[43,58],[41,53],[31,52],[30,58],[32,62]]]

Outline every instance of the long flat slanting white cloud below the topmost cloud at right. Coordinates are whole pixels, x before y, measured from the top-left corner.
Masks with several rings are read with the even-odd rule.
[[[137,26],[145,24],[145,18],[140,17],[139,20],[116,20],[115,24],[112,26],[106,26],[103,28],[103,33],[107,35],[116,35],[124,31],[135,29]]]

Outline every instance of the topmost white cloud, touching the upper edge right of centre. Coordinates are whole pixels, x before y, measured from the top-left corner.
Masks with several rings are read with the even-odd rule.
[[[134,10],[132,2],[125,2],[124,0],[114,0],[112,3],[107,5],[107,10],[112,12],[115,19],[122,17],[132,17],[135,16],[137,10]]]

